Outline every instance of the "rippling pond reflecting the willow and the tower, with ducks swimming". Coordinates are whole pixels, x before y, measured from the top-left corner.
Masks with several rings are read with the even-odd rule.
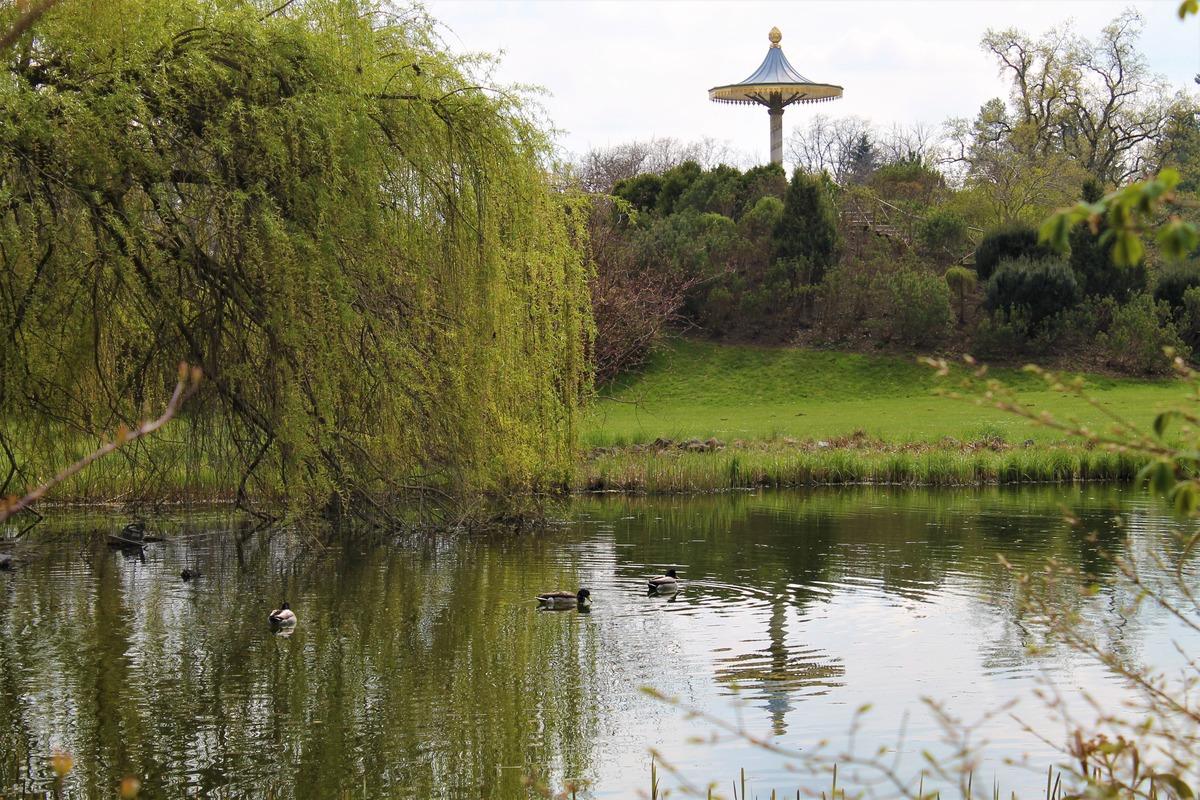
[[[798,750],[844,746],[870,703],[857,746],[900,746],[916,772],[941,738],[923,697],[972,720],[1019,700],[1034,727],[1048,681],[1123,697],[1072,652],[1031,651],[1000,554],[1079,569],[1099,590],[1064,602],[1134,661],[1196,644],[1152,608],[1126,613],[1098,548],[1181,523],[1115,488],[588,498],[564,517],[397,543],[175,515],[139,555],[106,545],[124,519],[60,512],[0,573],[0,792],[46,792],[56,751],[79,796],[134,775],[149,798],[523,798],[527,776],[630,798],[652,747],[700,784],[727,790],[740,769],[757,796],[811,784],[642,687]],[[680,591],[647,596],[672,566]],[[581,585],[589,613],[533,600]],[[283,599],[290,636],[266,625]],[[978,733],[982,783],[1044,794],[1048,745],[1009,714]],[[1032,769],[1006,764],[1020,758]]]

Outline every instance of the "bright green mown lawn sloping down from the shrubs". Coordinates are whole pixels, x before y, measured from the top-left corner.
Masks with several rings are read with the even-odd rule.
[[[994,374],[1025,390],[1038,409],[1103,425],[1094,409],[1046,391],[1039,378],[1019,369]],[[1187,393],[1172,380],[1090,375],[1088,384],[1109,410],[1145,425]],[[582,444],[629,445],[658,437],[803,440],[859,429],[894,443],[997,434],[1009,443],[1061,439],[1015,416],[935,397],[937,385],[929,367],[901,356],[678,341],[641,374],[601,393],[588,411]]]

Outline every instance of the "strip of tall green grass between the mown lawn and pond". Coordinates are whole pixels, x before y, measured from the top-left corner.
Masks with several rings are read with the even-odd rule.
[[[577,465],[576,492],[671,494],[853,483],[992,486],[1127,482],[1141,457],[1078,444],[1000,440],[894,444],[865,435],[830,440],[716,439],[596,447]]]

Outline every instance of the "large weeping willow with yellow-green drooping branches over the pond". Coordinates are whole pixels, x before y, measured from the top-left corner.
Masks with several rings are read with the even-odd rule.
[[[190,446],[244,503],[568,480],[584,215],[422,12],[64,0],[2,58],[0,480],[145,415],[180,360]]]

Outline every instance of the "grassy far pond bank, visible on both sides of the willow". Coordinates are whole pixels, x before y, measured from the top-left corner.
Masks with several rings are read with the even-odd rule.
[[[1127,483],[1145,465],[1139,456],[1074,443],[1007,444],[1001,440],[888,443],[862,434],[832,439],[721,441],[660,438],[653,443],[593,447],[580,453],[565,494],[694,494],[773,487],[889,485],[913,487],[1014,486],[1081,482]],[[182,475],[138,481],[126,465],[97,465],[90,480],[59,487],[42,505],[103,509],[230,507],[235,481],[196,482]],[[230,471],[230,475],[235,473]],[[172,479],[176,480],[172,480]],[[282,494],[250,498],[278,506]]]

